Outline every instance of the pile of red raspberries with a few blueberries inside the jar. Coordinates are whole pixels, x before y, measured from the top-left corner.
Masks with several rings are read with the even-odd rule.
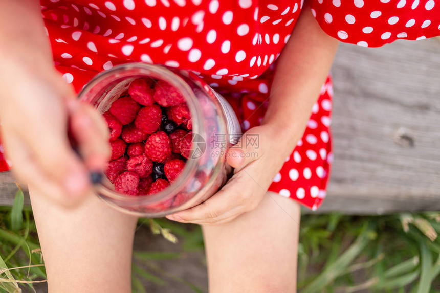
[[[191,115],[172,85],[136,79],[103,116],[112,147],[105,175],[115,191],[155,194],[182,172],[191,149]]]

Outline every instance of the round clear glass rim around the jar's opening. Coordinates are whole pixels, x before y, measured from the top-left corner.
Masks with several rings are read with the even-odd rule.
[[[127,74],[130,70],[136,71],[138,75]],[[126,76],[124,75],[124,72]],[[204,119],[200,114],[202,111],[200,109],[200,105],[196,102],[197,98],[195,97],[191,87],[178,74],[175,74],[172,70],[168,69],[168,67],[164,65],[133,62],[114,66],[112,69],[103,71],[93,77],[90,82],[81,89],[78,94],[78,98],[82,100],[95,86],[98,86],[105,78],[113,75],[117,75],[118,78],[141,78],[143,76],[152,77],[168,82],[179,90],[188,104],[192,120],[192,133],[200,135],[200,129],[204,129]],[[109,83],[107,83],[106,86],[109,86]],[[193,150],[191,150],[191,152],[192,151]],[[199,162],[199,160],[200,157],[188,159],[185,163],[182,173],[175,179],[175,181],[173,181],[164,190],[153,195],[130,196],[112,190],[103,183],[98,184],[95,189],[97,192],[105,195],[108,198],[111,198],[112,200],[124,202],[125,205],[132,204],[136,206],[139,205],[139,201],[142,201],[142,204],[145,205],[155,204],[159,201],[165,201],[175,196],[175,194],[177,194],[183,187],[183,184],[188,181],[192,175],[194,175],[197,169],[197,162]]]

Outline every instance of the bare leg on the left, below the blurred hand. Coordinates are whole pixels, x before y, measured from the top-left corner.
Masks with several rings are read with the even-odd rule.
[[[32,209],[50,293],[131,292],[131,252],[137,218],[94,195],[64,209],[31,190]]]

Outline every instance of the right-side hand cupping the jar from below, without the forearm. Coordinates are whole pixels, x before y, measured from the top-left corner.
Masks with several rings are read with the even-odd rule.
[[[258,135],[258,144],[246,145],[250,134]],[[203,204],[167,218],[183,223],[219,224],[255,209],[292,151],[285,147],[288,144],[282,146],[283,139],[277,136],[268,124],[251,128],[244,134],[243,144],[238,143],[227,153],[227,162],[235,170],[226,185]]]

